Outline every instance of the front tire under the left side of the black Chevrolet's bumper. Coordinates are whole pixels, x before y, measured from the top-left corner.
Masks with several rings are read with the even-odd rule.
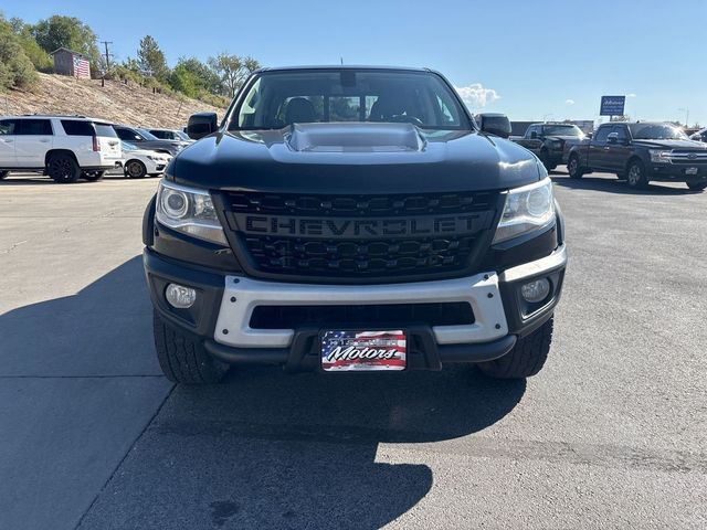
[[[176,383],[220,383],[229,365],[211,357],[201,341],[172,328],[154,312],[152,331],[162,373]]]

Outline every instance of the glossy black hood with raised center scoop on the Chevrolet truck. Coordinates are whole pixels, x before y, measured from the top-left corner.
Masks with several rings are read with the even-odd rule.
[[[184,149],[167,171],[184,186],[303,193],[497,190],[544,177],[535,156],[505,139],[365,123],[219,132]]]

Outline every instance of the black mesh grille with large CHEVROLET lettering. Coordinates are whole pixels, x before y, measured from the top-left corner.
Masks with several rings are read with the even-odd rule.
[[[493,192],[222,195],[232,246],[246,272],[342,283],[426,279],[469,269],[498,200]]]

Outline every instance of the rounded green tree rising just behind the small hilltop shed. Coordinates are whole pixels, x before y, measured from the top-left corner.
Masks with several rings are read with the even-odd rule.
[[[30,30],[36,43],[48,53],[57,47],[67,47],[83,53],[91,60],[92,70],[97,73],[101,52],[96,45],[96,34],[93,30],[75,17],[54,14],[40,20]]]

